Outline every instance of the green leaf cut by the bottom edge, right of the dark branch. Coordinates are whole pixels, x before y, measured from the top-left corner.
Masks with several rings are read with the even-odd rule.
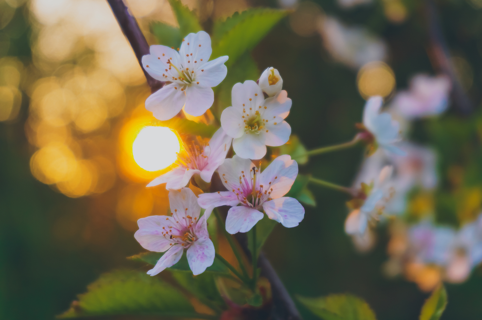
[[[362,299],[351,294],[330,294],[319,298],[298,296],[315,315],[324,320],[375,320],[375,313]]]

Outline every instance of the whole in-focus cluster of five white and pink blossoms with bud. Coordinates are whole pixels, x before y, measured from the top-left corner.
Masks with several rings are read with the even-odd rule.
[[[181,109],[192,116],[206,112],[214,102],[212,87],[227,74],[224,63],[228,56],[209,61],[211,53],[211,39],[204,31],[187,35],[177,50],[151,46],[150,54],[142,58],[143,67],[153,78],[168,84],[147,98],[147,110],[159,120],[169,120]],[[266,69],[257,82],[236,83],[231,92],[232,105],[222,112],[221,127],[213,137],[185,143],[174,169],[147,185],[166,184],[171,208],[169,215],[138,221],[135,239],[149,251],[165,252],[148,274],[154,276],[172,267],[184,249],[194,275],[211,266],[215,251],[207,219],[215,207],[231,207],[226,218],[230,234],[251,230],[265,213],[284,227],[295,227],[303,220],[305,210],[298,200],[283,197],[298,174],[296,161],[281,155],[263,171],[259,161],[266,155],[266,146],[281,146],[291,134],[284,120],[291,99],[282,90],[282,83],[273,67]],[[235,155],[226,159],[231,147]],[[198,198],[187,187],[192,182],[208,186],[214,172],[225,190],[210,193],[205,188],[206,193]],[[202,215],[201,208],[205,209]]]

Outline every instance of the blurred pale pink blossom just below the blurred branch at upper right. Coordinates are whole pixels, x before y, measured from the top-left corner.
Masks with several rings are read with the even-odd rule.
[[[451,87],[445,75],[417,75],[410,82],[410,90],[395,96],[392,108],[407,120],[441,114],[448,107]]]

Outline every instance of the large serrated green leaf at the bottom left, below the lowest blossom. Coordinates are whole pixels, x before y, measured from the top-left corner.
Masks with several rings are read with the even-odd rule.
[[[176,288],[159,277],[131,270],[101,275],[60,318],[147,314],[196,318],[194,308]]]

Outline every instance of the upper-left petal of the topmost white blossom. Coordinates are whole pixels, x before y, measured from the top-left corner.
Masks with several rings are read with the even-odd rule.
[[[173,75],[177,75],[175,70],[175,74],[171,73],[173,70],[169,70],[171,66],[167,64],[169,59],[174,66],[179,66],[179,53],[177,51],[162,45],[152,45],[149,48],[149,52],[150,54],[142,57],[142,66],[152,78],[169,81]],[[163,75],[167,75],[167,78]]]

